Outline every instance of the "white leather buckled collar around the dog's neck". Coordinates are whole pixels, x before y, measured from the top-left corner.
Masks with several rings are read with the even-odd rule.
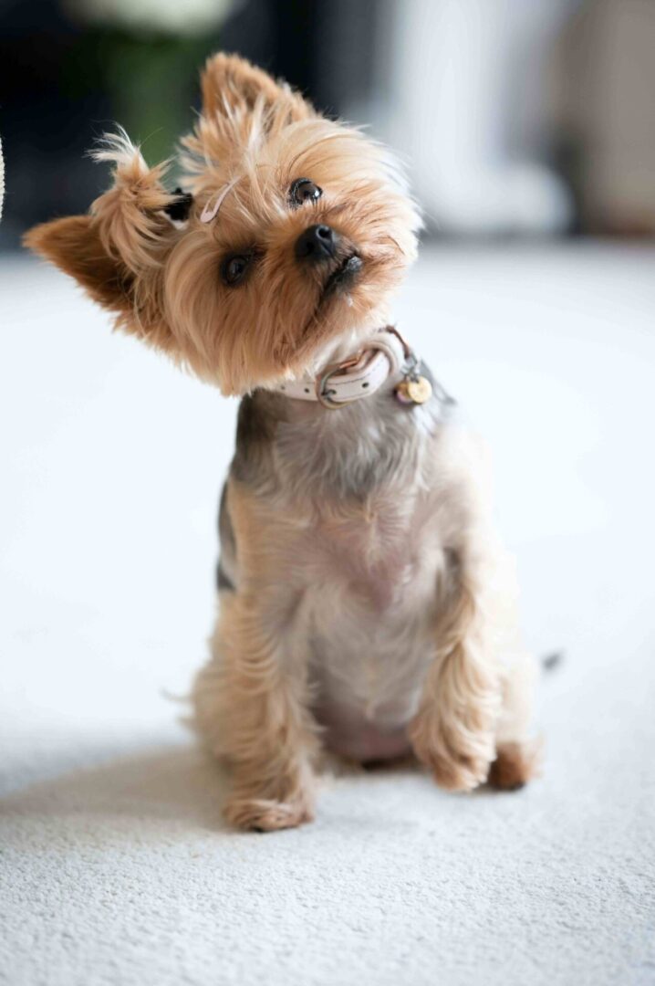
[[[330,409],[369,397],[398,374],[410,356],[393,328],[377,332],[355,356],[326,367],[316,377],[300,377],[276,387],[295,400],[317,400]]]

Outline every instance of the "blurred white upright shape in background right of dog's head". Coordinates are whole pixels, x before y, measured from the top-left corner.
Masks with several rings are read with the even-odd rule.
[[[577,0],[391,3],[382,128],[410,157],[427,218],[478,235],[565,228],[571,202],[546,162],[543,76]]]

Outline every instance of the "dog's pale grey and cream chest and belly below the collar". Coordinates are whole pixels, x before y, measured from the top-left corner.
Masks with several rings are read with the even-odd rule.
[[[433,656],[441,407],[408,412],[386,394],[292,412],[251,480],[272,498],[282,591],[299,600],[290,651],[309,656],[327,744],[394,755]]]

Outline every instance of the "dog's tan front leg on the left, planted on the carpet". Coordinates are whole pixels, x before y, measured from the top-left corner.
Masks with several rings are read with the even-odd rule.
[[[225,808],[238,828],[291,828],[313,817],[316,749],[306,659],[280,599],[224,593],[213,660],[196,679],[196,723],[232,768]],[[292,621],[293,622],[293,621]]]

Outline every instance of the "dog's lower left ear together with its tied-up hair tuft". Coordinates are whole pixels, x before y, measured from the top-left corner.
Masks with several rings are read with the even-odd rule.
[[[122,132],[106,138],[94,157],[113,164],[112,187],[88,215],[36,226],[25,244],[74,277],[121,328],[169,351],[173,340],[163,312],[164,263],[183,235],[176,206],[183,199],[186,208],[186,196],[167,192],[165,164],[149,169]]]

